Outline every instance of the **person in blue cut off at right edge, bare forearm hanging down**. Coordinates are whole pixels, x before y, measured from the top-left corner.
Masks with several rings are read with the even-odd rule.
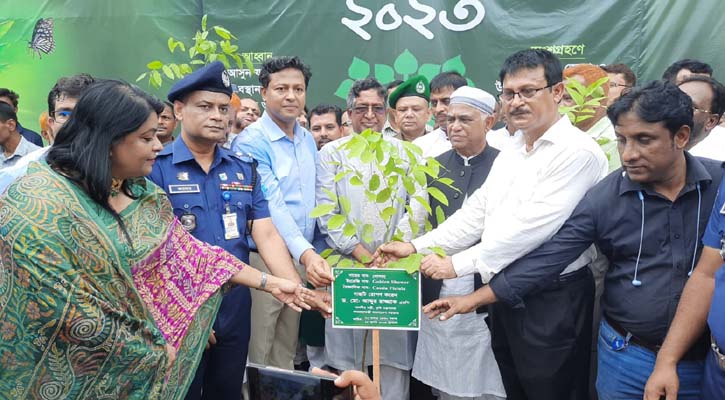
[[[701,398],[725,398],[725,178],[720,183],[715,206],[702,236],[702,255],[685,285],[667,338],[647,387],[646,400],[677,396],[681,372],[678,362],[710,327],[710,350],[705,359]]]

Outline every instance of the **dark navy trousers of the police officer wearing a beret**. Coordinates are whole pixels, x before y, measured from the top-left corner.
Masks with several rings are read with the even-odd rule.
[[[204,351],[185,400],[239,400],[249,351],[252,300],[249,288],[224,296],[214,322],[217,344]]]

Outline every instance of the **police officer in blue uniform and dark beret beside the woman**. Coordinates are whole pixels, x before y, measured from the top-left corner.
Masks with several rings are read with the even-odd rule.
[[[230,118],[231,94],[229,76],[218,61],[171,88],[168,100],[174,104],[181,133],[159,153],[149,179],[167,192],[174,213],[197,239],[249,263],[247,235],[251,234],[270,271],[300,283],[272,224],[252,159],[217,145]],[[247,287],[225,294],[187,399],[240,398],[250,307]]]

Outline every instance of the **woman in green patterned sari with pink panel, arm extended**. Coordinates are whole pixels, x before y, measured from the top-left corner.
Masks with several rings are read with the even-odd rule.
[[[0,198],[0,397],[180,399],[226,282],[309,308],[307,289],[187,234],[143,178],[162,109],[96,83]]]

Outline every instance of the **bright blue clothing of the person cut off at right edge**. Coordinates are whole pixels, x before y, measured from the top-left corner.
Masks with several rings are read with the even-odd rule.
[[[720,249],[725,260],[725,179],[720,183],[715,206],[710,214],[705,234],[705,246]],[[702,377],[702,398],[725,398],[725,268],[715,273],[715,291],[712,295],[707,324],[711,332],[711,348],[705,360]]]

